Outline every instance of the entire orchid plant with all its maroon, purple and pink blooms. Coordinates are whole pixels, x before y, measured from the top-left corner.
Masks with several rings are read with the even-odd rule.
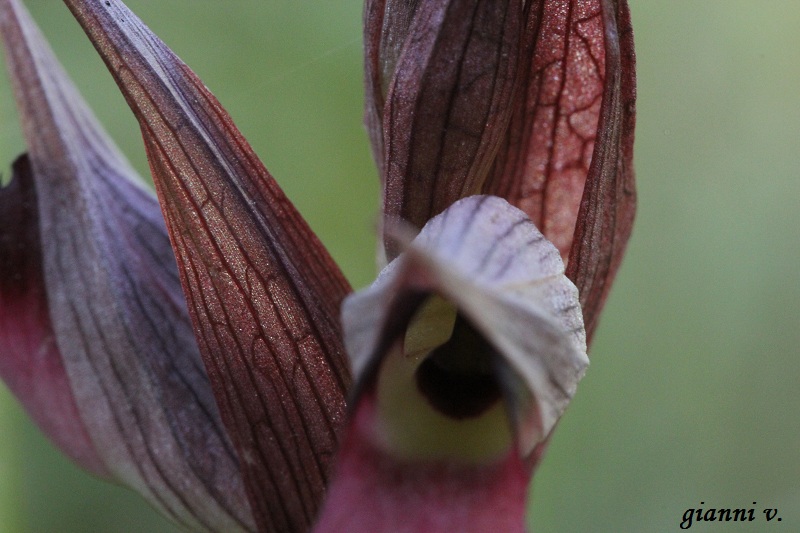
[[[65,3],[158,198],[0,0],[28,145],[0,375],[43,431],[193,531],[523,531],[633,221],[625,1],[366,1],[383,268],[356,293],[163,42]]]

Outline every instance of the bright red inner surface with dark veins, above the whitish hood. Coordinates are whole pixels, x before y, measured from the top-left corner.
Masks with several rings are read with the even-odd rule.
[[[528,213],[566,259],[604,89],[599,0],[535,2],[530,64],[484,191]]]

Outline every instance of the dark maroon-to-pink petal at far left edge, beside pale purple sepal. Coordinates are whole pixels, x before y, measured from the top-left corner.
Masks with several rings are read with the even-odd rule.
[[[13,169],[11,182],[0,188],[0,377],[56,446],[108,477],[75,404],[50,321],[28,158],[20,157]]]

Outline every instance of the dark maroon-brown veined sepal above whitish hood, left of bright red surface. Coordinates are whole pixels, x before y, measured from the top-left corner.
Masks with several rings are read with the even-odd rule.
[[[368,45],[367,117],[373,146],[382,147],[384,215],[422,227],[454,201],[480,190],[508,124],[524,19],[518,2],[412,6],[407,33],[394,37],[405,37],[402,47],[382,41],[373,65]],[[369,25],[391,23],[377,9],[367,6],[367,39],[375,39]],[[395,61],[393,69],[386,68]],[[385,74],[376,81],[370,68]],[[383,109],[371,111],[387,85]],[[382,123],[379,135],[371,125],[373,115]],[[396,255],[391,243],[388,252],[389,258]]]

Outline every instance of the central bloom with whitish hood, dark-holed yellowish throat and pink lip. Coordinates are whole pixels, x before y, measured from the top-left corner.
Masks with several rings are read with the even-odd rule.
[[[505,200],[460,200],[343,322],[358,393],[318,531],[521,531],[522,459],[589,363],[558,250]]]

